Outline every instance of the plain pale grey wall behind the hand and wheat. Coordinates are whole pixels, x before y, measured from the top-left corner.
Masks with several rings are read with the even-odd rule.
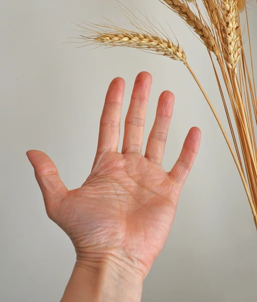
[[[201,42],[157,0],[122,3],[134,12],[145,9],[169,30],[168,21],[228,131]],[[175,163],[190,127],[201,128],[202,143],[182,190],[171,235],[145,280],[143,302],[253,301],[257,234],[250,207],[221,131],[187,69],[180,62],[136,49],[76,49],[77,44],[64,43],[79,34],[69,21],[99,23],[104,16],[132,29],[113,4],[0,1],[0,300],[58,301],[75,262],[69,238],[45,213],[26,151],[43,150],[69,189],[80,186],[91,170],[109,82],[117,76],[126,81],[124,121],[135,77],[147,70],[153,75],[153,87],[145,143],[160,93],[171,90],[176,97],[165,170]],[[254,29],[256,3],[249,7]],[[256,59],[254,31],[252,48]]]

